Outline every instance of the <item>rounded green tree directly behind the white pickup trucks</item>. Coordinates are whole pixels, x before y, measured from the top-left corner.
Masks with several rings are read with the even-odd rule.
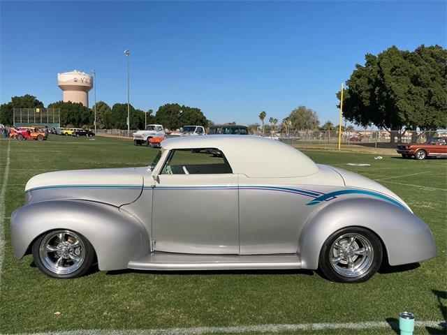
[[[180,110],[182,113],[180,113]],[[166,103],[156,111],[155,120],[168,129],[177,129],[179,126],[197,125],[206,127],[207,118],[200,108],[179,105],[178,103]]]

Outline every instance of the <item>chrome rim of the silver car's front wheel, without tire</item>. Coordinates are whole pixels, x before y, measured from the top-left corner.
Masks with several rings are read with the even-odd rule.
[[[43,266],[54,274],[72,274],[85,260],[85,244],[70,230],[54,230],[43,237],[39,258]]]

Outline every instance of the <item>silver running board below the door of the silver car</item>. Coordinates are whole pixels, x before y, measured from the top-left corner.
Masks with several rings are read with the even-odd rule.
[[[198,255],[154,252],[132,260],[129,269],[138,270],[235,270],[301,269],[300,255]]]

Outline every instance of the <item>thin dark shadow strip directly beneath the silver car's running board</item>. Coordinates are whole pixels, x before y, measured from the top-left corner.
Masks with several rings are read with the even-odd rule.
[[[256,275],[265,275],[265,274],[305,274],[307,276],[314,276],[314,271],[305,270],[305,269],[285,269],[285,270],[196,270],[196,271],[154,271],[154,270],[136,270],[136,269],[122,269],[122,270],[114,270],[107,271],[107,275],[116,276],[119,274],[159,274],[159,275],[182,275],[182,276],[212,276],[216,274],[256,274]]]

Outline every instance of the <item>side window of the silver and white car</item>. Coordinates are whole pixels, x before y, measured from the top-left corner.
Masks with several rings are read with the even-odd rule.
[[[221,174],[233,173],[219,149],[171,150],[161,174]]]

